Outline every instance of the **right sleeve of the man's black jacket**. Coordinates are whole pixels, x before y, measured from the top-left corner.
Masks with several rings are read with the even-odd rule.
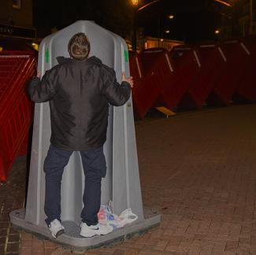
[[[131,95],[131,86],[127,82],[117,82],[116,72],[112,68],[104,68],[102,93],[111,105],[124,105]]]

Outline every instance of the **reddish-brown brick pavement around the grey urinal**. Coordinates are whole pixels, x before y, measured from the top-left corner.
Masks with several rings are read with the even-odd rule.
[[[256,254],[256,105],[149,118],[136,134],[145,212],[161,213],[161,225],[84,254]],[[0,187],[0,254],[71,254],[9,227],[7,212],[24,201],[24,163]]]

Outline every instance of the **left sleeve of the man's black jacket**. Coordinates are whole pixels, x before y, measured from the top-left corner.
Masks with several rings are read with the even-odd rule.
[[[50,101],[57,90],[57,69],[46,71],[43,78],[35,77],[28,84],[28,94],[33,102]]]

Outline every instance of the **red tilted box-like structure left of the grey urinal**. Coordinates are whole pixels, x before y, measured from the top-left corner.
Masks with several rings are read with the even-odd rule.
[[[0,181],[6,181],[32,123],[26,83],[34,73],[33,52],[0,53]]]

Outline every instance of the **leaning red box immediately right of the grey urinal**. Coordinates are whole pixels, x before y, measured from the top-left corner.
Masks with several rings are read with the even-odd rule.
[[[132,89],[135,116],[143,118],[172,76],[168,51],[150,49],[135,54],[130,57],[130,69],[135,79]]]

